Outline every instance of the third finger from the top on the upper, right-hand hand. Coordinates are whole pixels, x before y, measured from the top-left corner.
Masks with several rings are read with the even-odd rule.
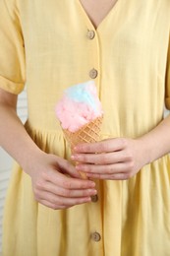
[[[98,174],[116,174],[120,172],[128,172],[132,169],[130,162],[118,162],[115,164],[96,165],[96,164],[78,164],[78,170],[87,173]]]

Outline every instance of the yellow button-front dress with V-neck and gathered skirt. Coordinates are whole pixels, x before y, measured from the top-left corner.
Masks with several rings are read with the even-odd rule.
[[[70,158],[54,106],[72,85],[95,81],[102,139],[142,136],[170,108],[170,1],[118,0],[96,30],[79,0],[0,0],[0,17],[0,87],[27,84],[26,128],[45,152]],[[170,255],[169,155],[96,186],[98,201],[54,211],[15,163],[3,256]]]

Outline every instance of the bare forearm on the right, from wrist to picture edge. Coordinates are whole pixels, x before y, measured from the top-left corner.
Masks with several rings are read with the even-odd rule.
[[[139,140],[147,163],[170,153],[170,115]]]

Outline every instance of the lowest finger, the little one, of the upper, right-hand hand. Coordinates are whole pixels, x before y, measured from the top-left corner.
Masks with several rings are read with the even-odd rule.
[[[87,173],[87,177],[103,180],[127,180],[132,177],[131,173],[115,173],[115,174],[99,174],[99,173]]]

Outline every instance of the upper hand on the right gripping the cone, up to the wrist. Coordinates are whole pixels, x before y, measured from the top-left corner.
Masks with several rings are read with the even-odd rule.
[[[74,151],[72,159],[79,162],[76,168],[89,178],[129,179],[147,163],[140,139],[108,139],[79,145]]]

